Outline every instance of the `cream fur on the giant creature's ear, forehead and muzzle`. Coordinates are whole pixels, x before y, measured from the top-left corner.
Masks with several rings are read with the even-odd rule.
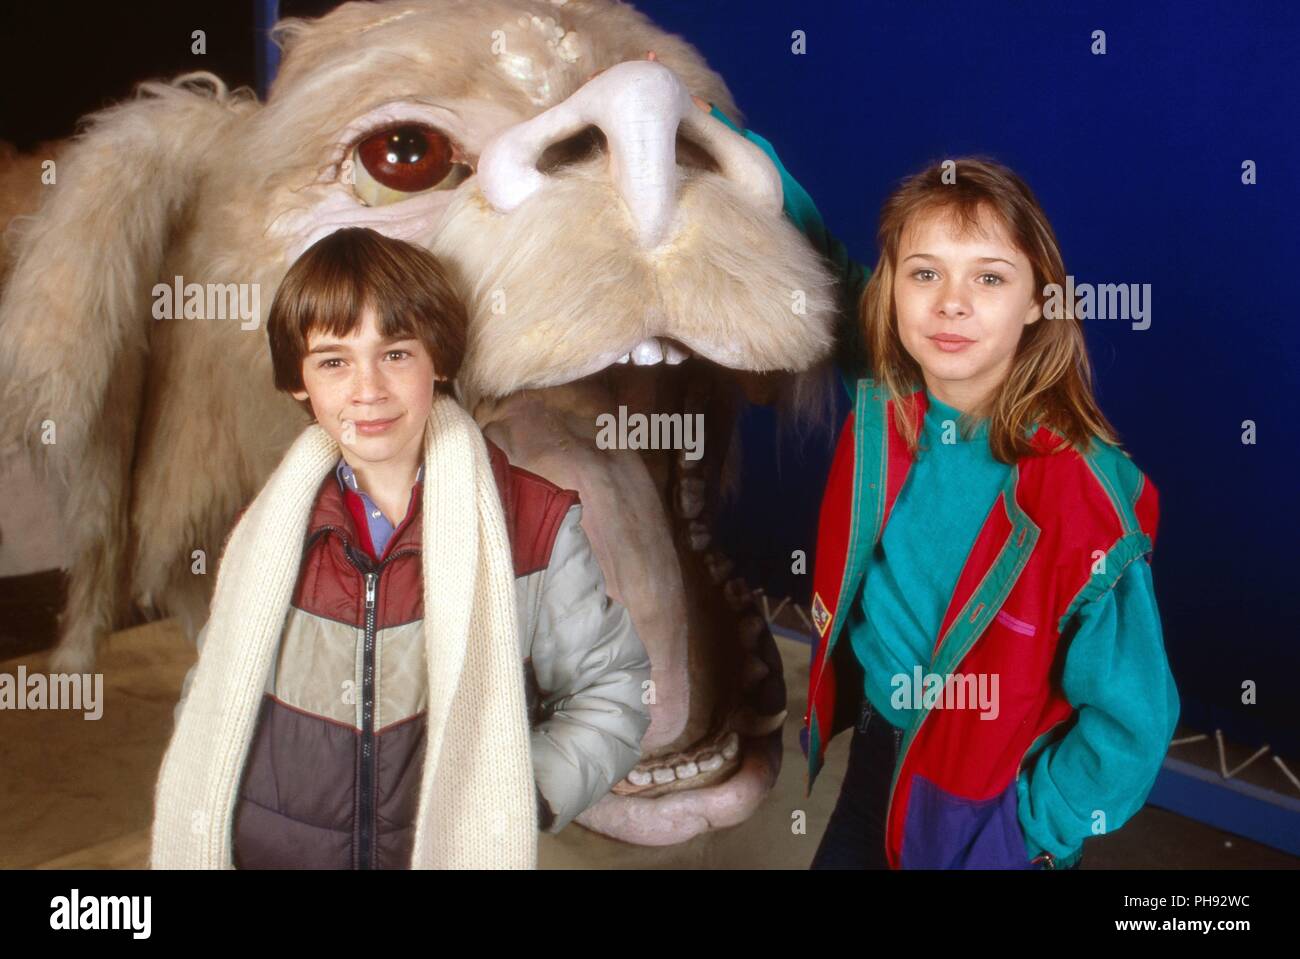
[[[573,36],[554,43],[547,17]],[[502,69],[495,30],[540,70],[526,83]],[[337,196],[328,173],[350,121],[426,97],[456,104],[465,136],[485,138],[651,48],[736,116],[693,47],[608,0],[354,3],[285,21],[278,35],[285,60],[266,104],[211,74],[142,84],[90,118],[57,185],[8,237],[0,451],[25,450],[61,503],[70,593],[56,669],[90,668],[96,637],[133,604],[198,633],[235,512],[306,421],[273,390],[263,325],[153,321],[150,290],[177,274],[259,283],[265,314],[292,249],[274,225]],[[468,389],[563,382],[654,333],[746,369],[824,357],[828,277],[789,224],[748,208],[723,178],[686,178],[677,239],[654,259],[636,252],[598,166],[536,200],[497,220],[471,178],[442,231],[417,240],[447,257],[471,300]],[[506,291],[503,316],[490,312],[493,288]],[[790,312],[793,290],[806,291],[806,316]],[[40,443],[46,421],[55,446]],[[192,572],[195,550],[207,576]]]

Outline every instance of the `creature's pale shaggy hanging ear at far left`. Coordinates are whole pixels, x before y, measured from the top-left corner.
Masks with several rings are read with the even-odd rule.
[[[31,185],[46,191],[40,205],[6,237],[0,451],[35,452],[46,420],[60,443],[84,437],[109,394],[133,395],[120,364],[129,356],[127,366],[143,369],[150,292],[200,181],[196,168],[255,108],[252,91],[228,92],[211,73],[142,83],[134,100],[83,121],[53,183]]]

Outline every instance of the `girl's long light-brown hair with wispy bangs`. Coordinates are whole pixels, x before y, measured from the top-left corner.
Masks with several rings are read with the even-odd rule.
[[[965,157],[952,162],[953,166],[945,161],[909,177],[885,200],[876,233],[880,259],[858,304],[874,376],[892,396],[902,400],[893,404],[894,422],[914,455],[920,424],[915,404],[905,398],[924,378],[898,337],[893,296],[898,247],[907,224],[918,214],[942,211],[959,230],[978,230],[979,212],[988,209],[1032,264],[1039,308],[1044,305],[1048,283],[1065,288],[1065,264],[1056,234],[1024,181],[991,160]],[[1062,312],[1061,317],[1044,314],[1024,327],[1006,379],[982,408],[968,411],[971,417],[988,417],[989,448],[1002,463],[1015,463],[1034,451],[1030,426],[1035,422],[1063,438],[1053,452],[1067,446],[1086,451],[1093,437],[1118,442],[1092,394],[1083,325],[1074,316],[1074,304],[1066,303]]]

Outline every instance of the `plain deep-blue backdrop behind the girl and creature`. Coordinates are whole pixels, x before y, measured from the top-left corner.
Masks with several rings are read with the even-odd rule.
[[[1161,492],[1154,578],[1183,721],[1300,752],[1300,269],[1288,3],[641,0],[728,81],[853,255],[928,161],[991,155],[1034,187],[1079,282],[1150,283],[1150,327],[1086,324],[1097,390]],[[807,52],[792,53],[802,30]],[[1091,52],[1104,30],[1105,56]],[[1242,183],[1253,160],[1258,182]],[[1288,305],[1290,304],[1290,305]],[[1257,442],[1243,444],[1243,421]],[[829,456],[745,421],[723,539],[751,582],[807,596]],[[780,472],[777,461],[780,460]],[[1258,703],[1242,703],[1242,684]]]

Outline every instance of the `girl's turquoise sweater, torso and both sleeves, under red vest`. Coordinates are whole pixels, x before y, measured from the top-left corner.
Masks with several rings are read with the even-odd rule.
[[[785,213],[841,278],[844,312],[837,363],[846,383],[866,373],[855,304],[870,270],[854,262],[826,229],[816,204],[762,136],[740,131],[776,165]],[[988,447],[987,424],[967,439],[944,443],[945,420],[958,411],[930,394],[924,448],[894,504],[846,624],[866,672],[864,694],[896,725],[892,680],[931,660],[935,637],[962,564],[988,516],[1006,470]],[[870,615],[868,612],[870,611]],[[1178,691],[1165,656],[1150,567],[1132,563],[1115,587],[1078,612],[1061,637],[1061,690],[1076,710],[1074,728],[1032,758],[1018,781],[1018,815],[1030,858],[1050,852],[1076,862],[1088,836],[1123,825],[1154,782],[1178,720]]]

